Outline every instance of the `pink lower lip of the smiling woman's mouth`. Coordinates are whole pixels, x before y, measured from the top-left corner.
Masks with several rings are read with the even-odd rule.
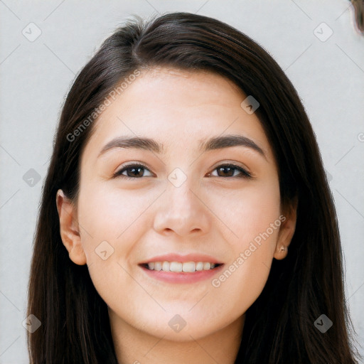
[[[141,269],[149,274],[150,277],[159,279],[168,283],[196,283],[205,279],[212,279],[215,274],[218,274],[223,269],[224,264],[219,267],[209,270],[200,270],[197,272],[164,272],[163,270],[151,270],[143,266]]]

